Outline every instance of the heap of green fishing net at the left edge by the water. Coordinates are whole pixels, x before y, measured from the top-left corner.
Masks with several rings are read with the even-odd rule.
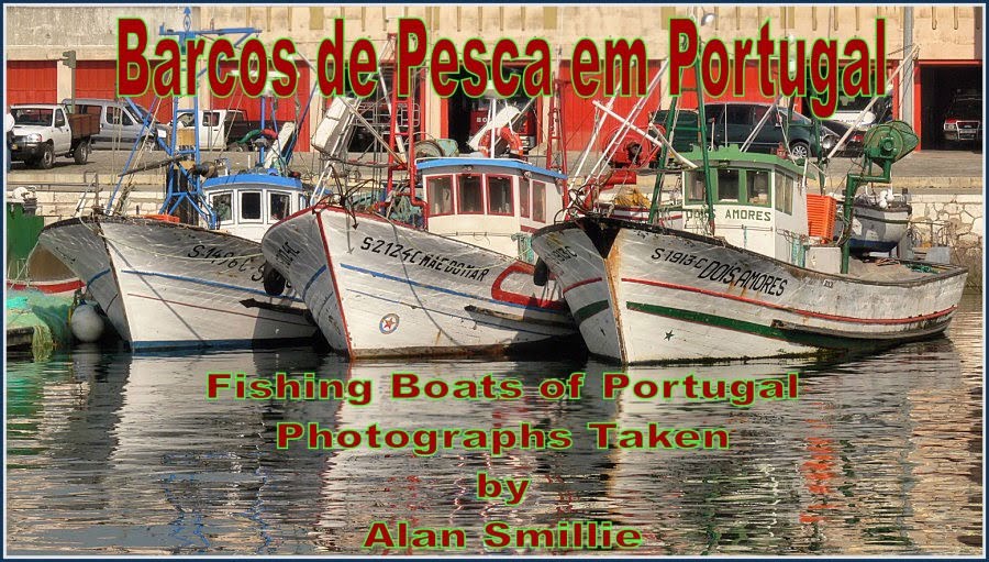
[[[35,357],[45,359],[56,349],[71,343],[68,326],[71,297],[46,295],[40,290],[7,293],[7,332],[33,330],[31,351]]]

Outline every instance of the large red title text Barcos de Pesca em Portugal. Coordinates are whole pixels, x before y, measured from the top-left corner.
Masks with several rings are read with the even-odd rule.
[[[427,57],[430,80],[441,97],[453,96],[459,87],[467,96],[478,98],[484,96],[489,82],[499,96],[505,98],[515,96],[520,88],[530,98],[553,92],[551,49],[544,38],[531,38],[523,49],[512,40],[500,38],[490,53],[489,66],[485,59],[488,46],[479,38],[470,38],[464,44],[463,57],[448,38],[436,40],[432,53],[429,53],[429,36],[420,19],[399,19],[397,36],[396,90],[400,98],[412,95],[411,73],[422,68]],[[705,93],[720,97],[726,93],[731,81],[731,93],[741,97],[745,93],[745,60],[752,56],[758,62],[759,91],[763,96],[803,97],[808,95],[810,82],[810,110],[815,117],[825,119],[834,113],[840,91],[846,96],[885,95],[886,84],[881,73],[877,71],[886,67],[886,23],[882,19],[876,20],[875,37],[875,59],[870,58],[865,40],[855,37],[841,49],[841,56],[847,64],[840,65],[836,40],[816,38],[809,56],[807,41],[796,40],[796,54],[791,54],[790,40],[769,38],[767,19],[759,29],[757,40],[734,41],[733,56],[730,58],[722,41],[712,38],[701,46],[694,22],[674,18],[669,21],[670,93],[680,93],[681,73],[691,68],[700,56],[701,82]],[[235,58],[234,46],[225,37],[213,41],[209,49],[203,38],[188,40],[186,45],[180,46],[178,41],[163,37],[154,48],[154,56],[159,59],[154,69],[145,57],[148,34],[143,20],[120,19],[118,41],[116,81],[120,96],[141,96],[148,88],[158,97],[193,95],[198,66],[203,55],[210,88],[218,97],[231,96],[238,86],[248,97],[260,96],[268,82],[269,65],[279,76],[271,80],[275,96],[291,97],[298,87],[293,62],[297,51],[289,38],[277,40],[271,45],[270,55],[259,38],[248,38],[241,47],[240,58]],[[324,38],[319,48],[315,67],[320,92],[324,97],[353,93],[366,98],[374,95],[378,80],[378,56],[374,44],[366,37],[358,38],[345,57],[344,42],[344,20],[336,19],[334,37]],[[184,56],[186,64],[182,64]],[[791,56],[793,60],[790,60]],[[778,77],[773,73],[773,58],[779,59]],[[592,40],[585,37],[575,44],[570,60],[573,88],[581,98],[597,96],[602,85],[604,96],[646,95],[648,64],[646,47],[641,38],[631,42],[624,38],[605,40],[603,48],[599,48]],[[236,63],[240,76],[231,73],[221,76],[223,62]],[[507,74],[509,66],[523,66],[521,77],[516,73]],[[790,75],[790,67],[796,68],[794,76]]]

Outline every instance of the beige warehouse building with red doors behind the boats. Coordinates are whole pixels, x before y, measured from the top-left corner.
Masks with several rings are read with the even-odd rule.
[[[144,19],[151,30],[151,45],[159,38],[159,25],[180,29],[184,20],[182,7],[113,5],[81,11],[71,7],[23,5],[8,7],[5,11],[8,103],[55,102],[73,95],[112,98],[116,92],[118,19]],[[520,45],[529,37],[543,37],[553,48],[554,66],[559,63],[558,77],[564,80],[562,107],[567,146],[579,151],[590,137],[594,107],[593,98],[577,96],[566,84],[575,43],[581,37],[598,42],[641,37],[647,47],[652,78],[662,59],[669,55],[668,22],[675,16],[708,22],[701,27],[701,38],[718,37],[726,44],[736,38],[756,38],[758,29],[769,19],[773,38],[792,36],[810,43],[823,37],[844,45],[848,40],[862,37],[870,46],[875,44],[876,20],[882,19],[887,76],[901,63],[904,52],[912,45],[919,46],[915,64],[905,67],[907,79],[896,84],[890,93],[894,117],[918,130],[922,148],[942,146],[942,122],[955,93],[969,89],[981,92],[984,84],[985,32],[980,5],[201,5],[192,9],[190,23],[197,29],[256,27],[262,30],[262,41],[269,45],[277,38],[289,37],[310,60],[316,59],[320,42],[332,33],[333,21],[338,18],[346,22],[347,48],[353,41],[367,37],[379,55],[386,51],[389,33],[397,31],[400,18],[422,19],[431,43],[445,37],[458,48],[471,37],[479,37],[488,45],[501,37],[513,38]],[[75,55],[74,69],[63,62],[68,53]],[[310,100],[315,73],[302,62],[297,66],[300,87],[293,98],[279,100],[276,117],[295,119],[308,107],[310,115],[319,119],[327,101],[319,93]],[[774,74],[779,73],[779,67],[778,60],[774,62]],[[749,60],[744,69],[746,88],[742,99],[773,101],[759,91],[757,73],[756,62]],[[243,95],[216,98],[203,87],[200,96],[201,107],[240,108],[249,118],[259,113],[258,101]],[[603,96],[599,92],[596,98],[603,99]],[[151,107],[153,95],[145,93],[137,101]],[[624,113],[635,101],[634,97],[621,98],[614,110]],[[689,99],[686,102],[689,104]],[[798,100],[798,104],[801,102]],[[427,135],[453,137],[463,144],[484,120],[484,103],[485,100],[463,92],[442,98],[432,88],[424,87],[418,90],[416,117],[423,120]],[[657,104],[658,98],[651,98],[636,122],[644,124]],[[531,129],[533,142],[542,143],[546,135],[548,98],[537,99],[531,111],[531,122],[525,126]],[[171,112],[170,103],[162,103],[156,109],[159,119],[170,119]],[[303,151],[309,150],[312,121],[309,119],[302,125],[300,148]]]

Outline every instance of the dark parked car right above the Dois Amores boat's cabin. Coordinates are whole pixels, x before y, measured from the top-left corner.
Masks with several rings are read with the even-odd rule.
[[[771,103],[756,102],[713,102],[704,104],[704,113],[714,145],[742,145],[756,128],[766,112],[770,115],[758,134],[753,139],[749,150],[754,152],[774,152],[784,143],[784,124],[787,120],[787,108]],[[814,135],[813,121],[793,112],[787,128],[787,141],[790,152],[798,158],[818,156],[834,146],[837,135],[826,128],[821,130],[820,142]]]

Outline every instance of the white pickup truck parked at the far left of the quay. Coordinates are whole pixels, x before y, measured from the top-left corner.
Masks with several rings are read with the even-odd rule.
[[[86,164],[92,137],[100,132],[98,115],[70,114],[59,103],[24,103],[10,108],[14,118],[11,161],[48,169],[56,156]]]

